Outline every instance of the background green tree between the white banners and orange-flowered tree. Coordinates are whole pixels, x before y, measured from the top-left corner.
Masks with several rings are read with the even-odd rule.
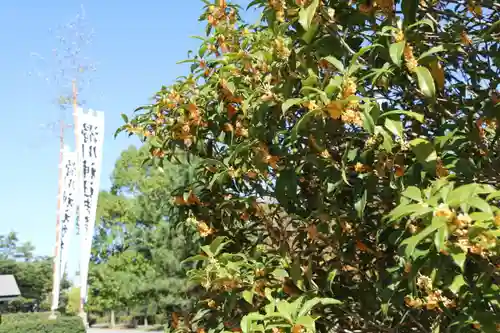
[[[180,262],[196,253],[197,237],[179,224],[172,191],[190,181],[189,165],[163,170],[144,165],[148,147],[125,150],[99,196],[89,277],[89,306],[145,319],[186,310],[190,286]],[[113,317],[112,316],[112,317]]]

